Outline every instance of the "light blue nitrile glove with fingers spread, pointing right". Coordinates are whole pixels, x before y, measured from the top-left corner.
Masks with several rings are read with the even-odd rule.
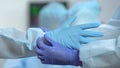
[[[86,29],[98,27],[100,25],[99,22],[71,26],[71,23],[73,23],[75,19],[76,17],[71,18],[58,29],[48,31],[45,35],[54,41],[61,43],[63,46],[73,49],[79,49],[80,44],[93,41],[88,37],[103,36],[103,33],[101,32],[86,31]]]

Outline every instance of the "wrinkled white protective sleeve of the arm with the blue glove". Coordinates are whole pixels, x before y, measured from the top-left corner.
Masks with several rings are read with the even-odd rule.
[[[40,28],[29,28],[27,31],[0,28],[0,58],[35,56],[36,40],[43,36],[44,32]]]

